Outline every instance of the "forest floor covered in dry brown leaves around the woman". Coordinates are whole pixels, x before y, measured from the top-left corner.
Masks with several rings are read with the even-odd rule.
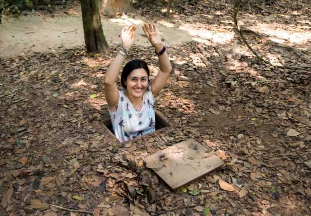
[[[310,215],[310,70],[255,58],[228,2],[174,1],[170,21],[157,5],[134,4],[133,19],[174,26],[192,41],[166,44],[173,71],[156,109],[170,127],[126,144],[103,126],[103,78],[118,44],[104,55],[80,46],[0,59],[0,214],[83,214],[62,206],[96,215]],[[310,14],[307,0],[249,2],[239,22],[265,59],[310,66]],[[137,45],[127,57],[135,58],[156,74],[154,50]],[[189,138],[225,166],[172,191],[142,161]]]

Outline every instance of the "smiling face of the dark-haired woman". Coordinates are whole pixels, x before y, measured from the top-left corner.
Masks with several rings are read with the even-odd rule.
[[[127,95],[141,97],[148,87],[148,74],[143,68],[132,70],[125,80]]]

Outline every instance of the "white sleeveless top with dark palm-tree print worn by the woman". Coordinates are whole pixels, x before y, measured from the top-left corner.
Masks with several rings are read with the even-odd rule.
[[[141,111],[138,112],[129,98],[119,90],[116,111],[109,110],[115,136],[121,142],[155,131],[155,98],[151,92],[150,83],[142,98]]]

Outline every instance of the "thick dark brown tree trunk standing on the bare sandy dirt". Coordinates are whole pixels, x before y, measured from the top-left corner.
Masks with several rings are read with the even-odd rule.
[[[98,0],[81,0],[84,41],[90,52],[102,53],[109,49],[98,10]]]

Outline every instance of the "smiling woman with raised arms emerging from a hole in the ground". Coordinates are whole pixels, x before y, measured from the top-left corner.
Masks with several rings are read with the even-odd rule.
[[[142,60],[132,60],[122,70],[123,91],[118,90],[116,80],[119,71],[135,41],[136,26],[132,25],[122,29],[122,47],[109,65],[104,81],[113,130],[121,142],[155,131],[154,98],[172,70],[155,25],[144,24],[142,29],[158,55],[160,70],[157,76],[150,82],[147,64]]]

